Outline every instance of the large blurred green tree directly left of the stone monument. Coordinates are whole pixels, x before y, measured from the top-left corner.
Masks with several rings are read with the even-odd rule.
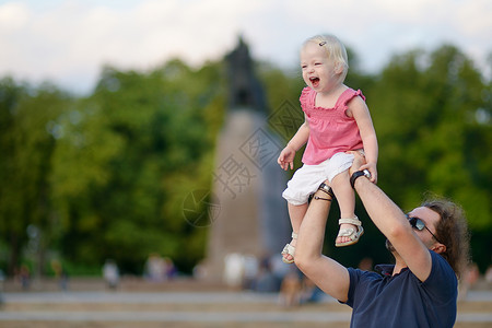
[[[186,222],[183,200],[210,186],[219,74],[218,65],[192,71],[178,60],[150,73],[105,68],[80,119],[62,118],[52,181],[66,257],[110,257],[137,273],[150,253],[185,270],[203,256],[206,231]]]

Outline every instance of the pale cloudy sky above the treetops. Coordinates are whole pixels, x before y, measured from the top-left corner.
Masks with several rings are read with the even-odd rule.
[[[89,94],[106,65],[199,67],[243,35],[256,60],[298,67],[301,44],[330,33],[376,72],[396,54],[452,44],[485,67],[491,0],[0,0],[0,78]]]

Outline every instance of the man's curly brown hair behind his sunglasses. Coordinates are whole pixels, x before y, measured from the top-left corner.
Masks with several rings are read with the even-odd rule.
[[[447,260],[456,276],[462,277],[470,260],[470,236],[465,211],[458,204],[446,199],[429,199],[422,203],[437,214],[436,236],[446,245],[441,255]]]

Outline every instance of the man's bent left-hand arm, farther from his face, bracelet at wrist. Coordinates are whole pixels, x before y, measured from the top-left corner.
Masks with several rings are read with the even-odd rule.
[[[315,197],[331,198],[324,191]],[[321,254],[325,227],[331,201],[313,199],[298,231],[295,263],[318,288],[332,297],[347,302],[350,277],[345,267]]]

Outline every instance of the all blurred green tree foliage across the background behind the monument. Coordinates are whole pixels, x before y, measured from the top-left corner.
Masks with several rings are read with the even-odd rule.
[[[285,101],[298,106],[300,73],[268,63],[257,69],[271,113]],[[204,256],[207,229],[185,220],[183,201],[211,186],[226,112],[224,75],[222,62],[191,69],[171,60],[151,71],[105,67],[86,97],[0,80],[2,268],[13,273],[28,259],[46,272],[52,257],[98,268],[113,258],[122,271],[140,273],[149,254],[159,253],[191,270]],[[475,260],[488,265],[491,82],[445,45],[396,56],[377,75],[352,60],[347,84],[367,97],[379,141],[379,186],[406,210],[425,191],[461,203],[477,236]],[[359,245],[364,251],[338,253],[344,262],[378,258],[380,247],[373,245],[380,235],[366,226]]]

